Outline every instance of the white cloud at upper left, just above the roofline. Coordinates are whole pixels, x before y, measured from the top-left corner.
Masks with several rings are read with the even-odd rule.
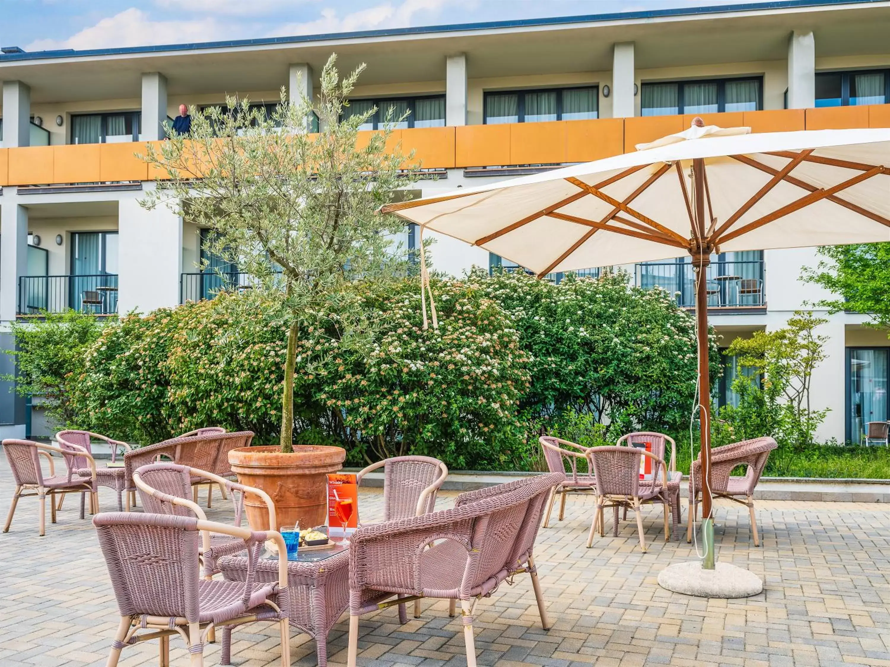
[[[243,29],[243,28],[242,28]],[[237,24],[226,25],[214,17],[196,20],[151,20],[148,13],[131,7],[84,28],[68,39],[37,39],[27,51],[51,49],[102,49],[115,46],[181,44],[235,38]]]

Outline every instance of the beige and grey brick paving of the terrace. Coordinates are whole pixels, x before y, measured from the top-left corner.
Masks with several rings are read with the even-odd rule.
[[[0,463],[0,512],[12,497],[12,476]],[[202,498],[204,492],[202,491]],[[455,494],[440,496],[445,508]],[[56,525],[37,536],[37,502],[19,503],[9,534],[0,535],[0,665],[102,665],[117,628],[117,607],[99,544],[69,497]],[[101,509],[115,510],[100,490]],[[208,517],[227,520],[231,504],[218,492]],[[360,494],[362,518],[380,513],[382,494]],[[762,501],[762,548],[750,541],[748,510],[720,504],[718,559],[765,578],[765,591],[739,600],[687,598],[656,583],[669,563],[694,558],[694,545],[664,542],[660,507],[645,510],[650,543],[642,554],[631,516],[619,537],[585,549],[590,497],[570,496],[566,518],[542,529],[536,560],[554,627],[543,631],[527,576],[506,583],[477,607],[480,664],[554,665],[890,665],[890,508],[852,502]],[[685,518],[685,512],[684,512]],[[683,535],[683,538],[685,535]],[[463,665],[459,618],[446,602],[424,603],[423,617],[399,625],[395,607],[363,616],[361,665]],[[348,615],[331,632],[330,663],[346,659]],[[291,632],[295,664],[315,663],[306,635]],[[179,639],[172,664],[187,664]],[[206,650],[219,661],[219,645]],[[277,628],[254,623],[233,633],[232,663],[277,665]],[[158,663],[156,642],[125,648],[122,667]]]

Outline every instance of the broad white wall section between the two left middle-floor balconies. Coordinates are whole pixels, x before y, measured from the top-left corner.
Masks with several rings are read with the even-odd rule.
[[[179,304],[182,218],[163,204],[146,211],[135,198],[122,199],[117,216],[117,312]]]

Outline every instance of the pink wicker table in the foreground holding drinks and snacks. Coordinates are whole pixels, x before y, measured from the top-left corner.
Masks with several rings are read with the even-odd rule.
[[[247,558],[228,556],[218,563],[223,577],[243,581]],[[278,556],[267,555],[256,566],[257,583],[278,581]],[[291,627],[315,639],[319,667],[328,664],[328,632],[349,607],[349,546],[301,551],[287,563],[287,595],[275,600],[287,612]],[[231,626],[223,628],[220,664],[231,664]]]

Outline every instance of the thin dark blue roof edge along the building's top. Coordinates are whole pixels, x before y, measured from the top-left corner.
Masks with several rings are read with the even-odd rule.
[[[546,26],[566,25],[570,23],[605,23],[609,21],[621,20],[647,20],[683,16],[700,16],[730,12],[764,12],[770,10],[802,9],[806,7],[825,7],[830,5],[873,4],[884,2],[886,2],[886,0],[774,0],[773,2],[760,3],[718,4],[705,7],[676,7],[671,9],[641,10],[636,12],[610,12],[603,14],[585,14],[579,16],[556,16],[544,19],[498,20],[479,23],[451,23],[447,25],[421,26],[417,28],[357,30],[352,32],[326,33],[319,35],[263,37],[259,39],[236,39],[217,42],[191,42],[188,44],[125,46],[109,49],[85,49],[80,51],[77,51],[75,49],[61,49],[55,51],[0,53],[0,62],[83,58],[88,56],[126,55],[138,53],[183,52],[198,51],[204,49],[267,46],[274,44],[305,44],[336,39],[356,39],[361,37],[425,35],[435,33],[466,32],[473,30],[493,30],[504,28],[538,28]]]

